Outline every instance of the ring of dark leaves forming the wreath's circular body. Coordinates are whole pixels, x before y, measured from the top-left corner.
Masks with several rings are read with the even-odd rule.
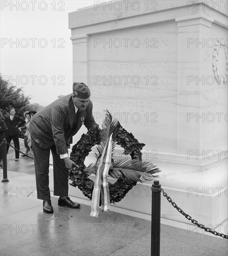
[[[146,163],[144,165],[141,164],[141,150],[145,146],[145,144],[139,143],[139,141],[134,138],[134,135],[132,133],[128,133],[124,128],[122,128],[119,121],[117,121],[115,125],[114,132],[116,133],[116,144],[124,148],[125,155],[131,155],[131,158],[132,160],[134,160],[133,162],[135,162],[136,167],[144,169],[142,170],[142,172],[147,172],[147,175],[149,175],[149,177],[152,176],[152,173],[154,174],[156,172],[160,172],[159,168],[156,168],[156,166],[151,163]],[[97,165],[97,162],[101,157],[101,152],[100,155],[97,155],[97,162],[94,165],[91,164],[86,167],[84,161],[87,155],[89,155],[89,152],[92,151],[91,148],[101,143],[100,133],[101,130],[99,128],[95,128],[93,130],[90,129],[87,134],[83,134],[81,136],[80,140],[73,146],[72,152],[70,154],[70,159],[78,165],[78,168],[73,168],[69,173],[69,179],[73,181],[72,183],[70,183],[70,185],[78,187],[82,191],[83,195],[87,196],[90,200],[92,200],[94,181],[90,180],[88,176],[91,175],[91,173],[94,173],[91,172],[90,169],[94,167],[94,165]],[[138,165],[138,163],[140,164]],[[116,169],[120,171],[121,176],[114,175],[114,170],[112,169],[114,166],[116,166]],[[147,169],[148,166],[150,167],[149,171]],[[140,181],[140,177],[143,176],[144,181],[151,180],[151,178],[148,178],[148,176],[144,175],[144,173],[142,173],[141,171],[138,171],[138,173],[134,174],[133,176],[132,174],[128,176],[126,175],[126,172],[121,172],[121,168],[124,168],[124,170],[126,171],[126,169],[129,169],[130,167],[132,167],[132,163],[130,165],[128,163],[128,165],[126,166],[126,161],[114,161],[112,159],[109,176],[116,178],[117,181],[115,183],[108,182],[110,203],[120,202],[127,194],[127,192],[132,189],[138,181]]]

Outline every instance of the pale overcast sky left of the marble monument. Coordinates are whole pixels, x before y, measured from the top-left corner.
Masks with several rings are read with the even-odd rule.
[[[92,0],[0,1],[0,73],[46,106],[71,93],[73,50],[68,13]]]

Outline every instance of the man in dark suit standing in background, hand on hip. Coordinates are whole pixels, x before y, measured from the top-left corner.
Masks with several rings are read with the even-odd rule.
[[[21,119],[18,115],[15,115],[16,111],[15,108],[10,109],[10,116],[5,118],[5,122],[7,125],[7,142],[10,143],[13,140],[14,147],[20,150],[20,143],[19,143],[19,130],[20,126],[23,126],[26,121]],[[7,154],[9,150],[9,145],[7,144]],[[19,160],[20,152],[15,149],[15,161]]]

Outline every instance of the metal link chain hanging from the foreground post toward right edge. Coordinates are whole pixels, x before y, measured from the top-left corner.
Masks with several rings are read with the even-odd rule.
[[[167,195],[167,193],[164,192],[163,189],[156,189],[156,188],[151,188],[151,190],[153,191],[162,191],[163,195],[166,197],[166,199],[168,200],[168,202],[170,202],[172,204],[172,206],[177,209],[183,216],[185,216],[186,219],[188,219],[189,221],[191,221],[192,223],[194,223],[196,226],[198,226],[201,229],[204,229],[205,231],[214,234],[215,236],[221,236],[223,238],[228,239],[228,236],[219,232],[216,232],[213,229],[210,228],[206,228],[203,224],[197,222],[196,220],[194,220],[191,216],[189,216],[187,213],[185,213],[179,206],[177,206],[177,204]]]

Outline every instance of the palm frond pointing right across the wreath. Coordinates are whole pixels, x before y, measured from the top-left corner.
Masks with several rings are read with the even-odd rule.
[[[121,178],[127,182],[146,182],[151,181],[161,170],[150,162],[141,162],[135,160],[114,161],[114,167],[109,171],[109,176],[118,179]]]

